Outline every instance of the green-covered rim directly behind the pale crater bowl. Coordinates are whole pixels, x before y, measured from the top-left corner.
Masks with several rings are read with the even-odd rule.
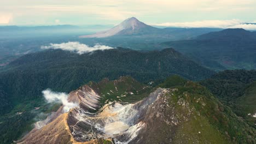
[[[107,101],[120,101],[126,103],[135,103],[147,97],[151,92],[152,87],[143,85],[130,76],[122,76],[118,80],[89,82],[89,86],[97,89],[101,94],[101,104]]]

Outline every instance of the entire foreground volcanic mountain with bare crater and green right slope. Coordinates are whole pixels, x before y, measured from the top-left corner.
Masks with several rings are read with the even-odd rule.
[[[126,83],[127,81],[131,83]],[[168,83],[170,81],[177,83]],[[126,85],[126,90],[122,90],[123,86],[120,82],[123,82],[121,85]],[[139,83],[131,77],[101,83],[104,84],[91,83],[71,92],[69,100],[75,102],[79,99],[79,106],[67,113],[60,113],[43,128],[33,129],[17,142],[21,144],[57,141],[62,143],[255,142],[255,129],[249,127],[229,107],[220,103],[205,87],[197,83],[172,76],[159,85],[162,88],[149,87],[146,93],[142,92],[147,94],[147,97],[142,100],[137,99],[133,103],[127,103],[124,99],[117,101],[122,95],[127,98],[133,97],[130,88],[139,86]],[[136,95],[134,97],[141,97],[137,93],[139,89],[134,90]],[[91,93],[94,93],[94,97],[91,97]],[[107,98],[107,101],[103,103],[95,100],[96,97]],[[96,106],[103,105],[103,107],[95,113],[90,113],[84,99],[88,101],[94,99]],[[63,107],[60,107],[58,111],[62,109]]]

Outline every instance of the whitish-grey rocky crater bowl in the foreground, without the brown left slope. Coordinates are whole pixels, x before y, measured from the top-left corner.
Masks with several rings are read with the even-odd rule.
[[[139,131],[146,129],[149,119],[161,117],[159,107],[164,106],[166,92],[168,89],[158,88],[135,104],[109,103],[97,113],[76,107],[68,115],[69,129],[79,142],[100,137],[113,137],[117,143],[135,142]]]

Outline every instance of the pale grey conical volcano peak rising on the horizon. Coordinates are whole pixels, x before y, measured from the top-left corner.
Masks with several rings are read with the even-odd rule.
[[[158,28],[148,26],[145,23],[131,17],[108,31],[98,32],[92,35],[83,35],[80,38],[104,38],[113,35],[149,34],[158,31]]]

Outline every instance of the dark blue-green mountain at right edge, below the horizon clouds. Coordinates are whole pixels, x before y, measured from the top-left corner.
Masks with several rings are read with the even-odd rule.
[[[256,69],[256,34],[245,29],[224,29],[164,44],[215,70]]]

